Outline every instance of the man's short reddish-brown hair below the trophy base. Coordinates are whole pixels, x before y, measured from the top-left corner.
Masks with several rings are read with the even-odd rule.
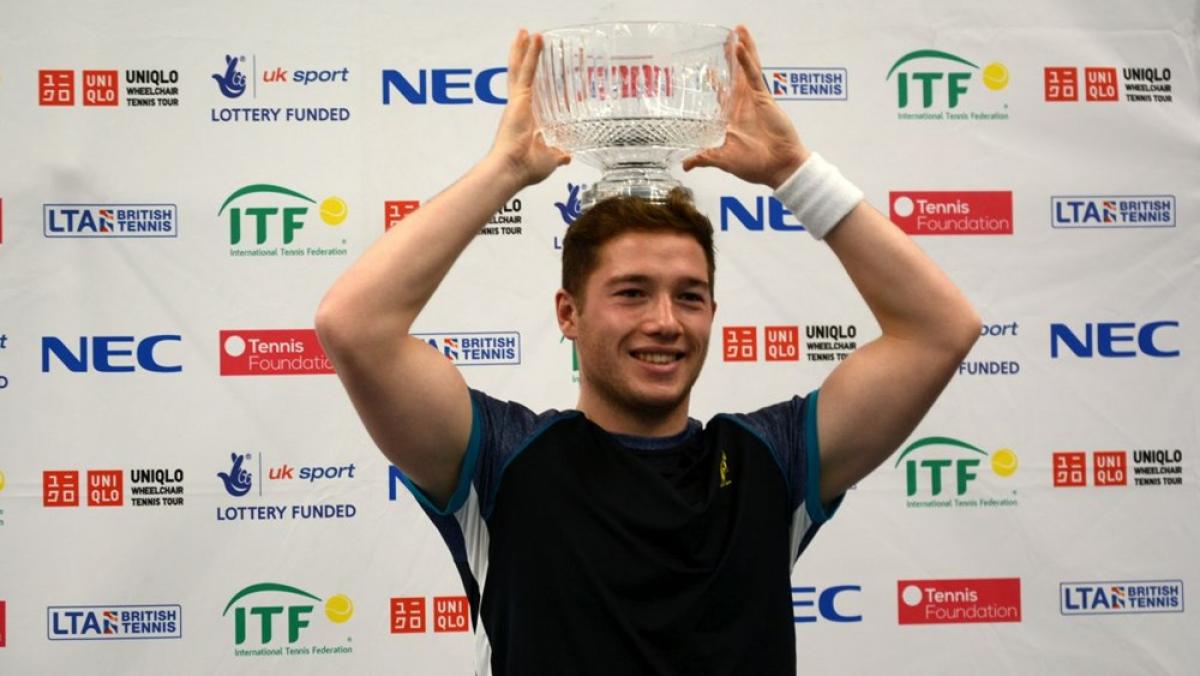
[[[692,205],[680,189],[666,202],[640,197],[610,197],[584,211],[566,228],[563,238],[563,288],[583,299],[583,287],[595,270],[600,247],[625,233],[674,233],[691,237],[708,261],[708,289],[713,292],[716,262],[713,255],[713,223]]]

